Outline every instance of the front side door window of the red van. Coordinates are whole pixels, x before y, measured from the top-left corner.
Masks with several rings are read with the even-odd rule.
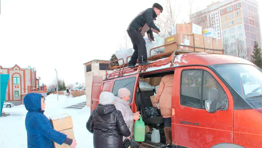
[[[211,74],[195,69],[182,71],[181,105],[205,109],[205,94],[208,89],[216,89],[219,92],[217,110],[227,110],[226,93]]]

